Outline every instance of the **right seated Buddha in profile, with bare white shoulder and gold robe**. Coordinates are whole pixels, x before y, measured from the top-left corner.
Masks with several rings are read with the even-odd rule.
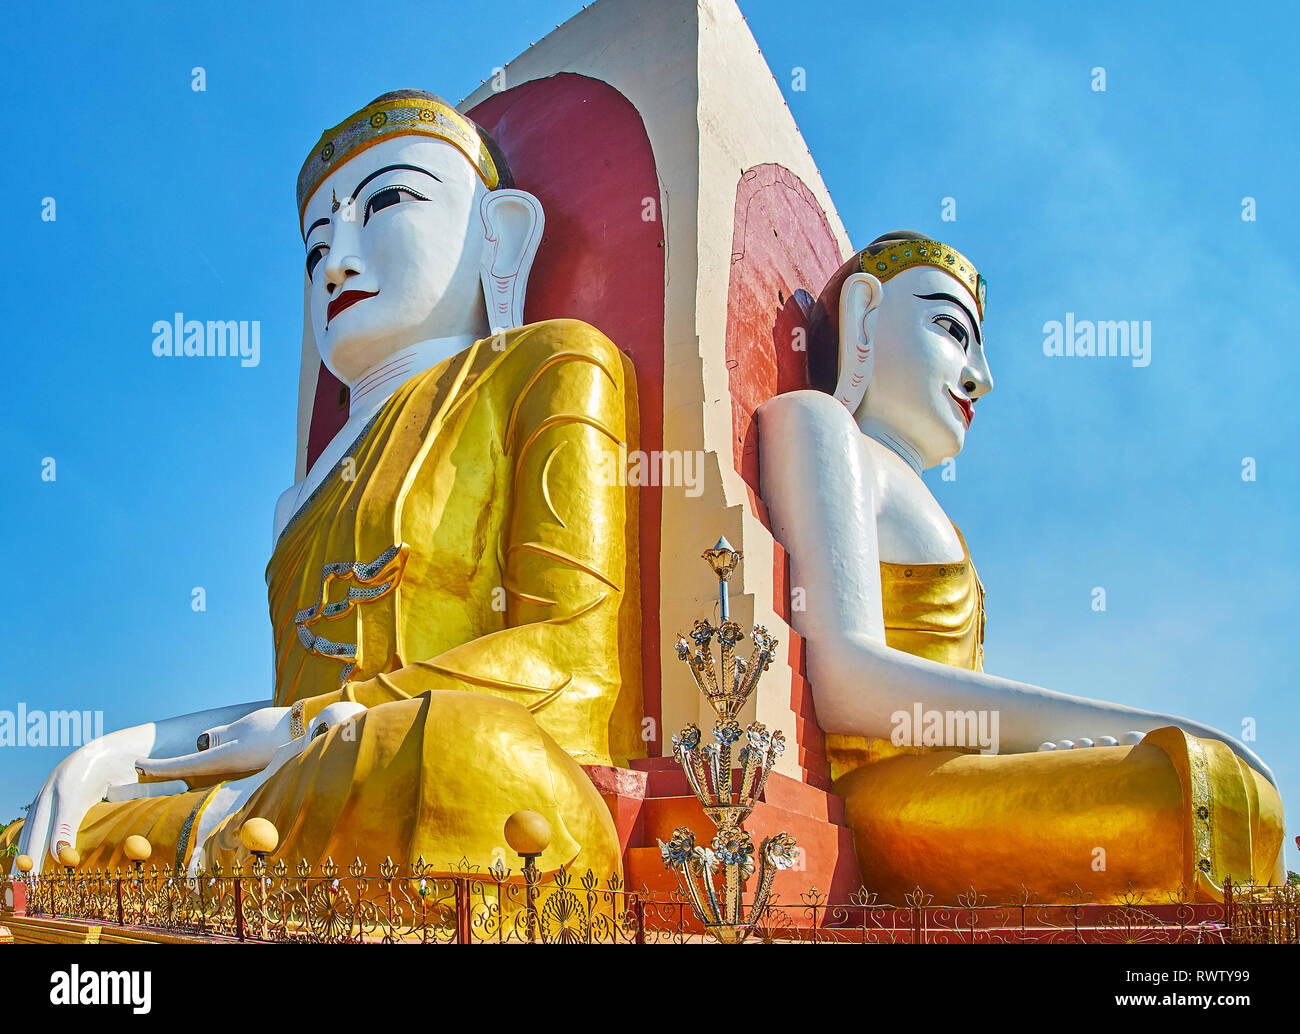
[[[793,624],[864,886],[894,903],[1022,884],[1162,901],[1282,882],[1282,804],[1242,743],[983,670],[984,588],[920,473],[961,451],[993,388],[984,303],[954,248],[881,237],[814,308],[814,390],[758,411],[762,497],[803,589]]]

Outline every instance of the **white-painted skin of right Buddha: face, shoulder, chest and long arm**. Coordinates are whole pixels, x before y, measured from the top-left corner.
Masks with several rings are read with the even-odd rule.
[[[945,563],[963,555],[909,459],[920,457],[919,466],[932,467],[956,455],[967,425],[949,391],[979,399],[992,389],[992,376],[978,328],[966,320],[962,343],[956,307],[916,297],[954,293],[956,278],[916,268],[884,285],[866,281],[845,299],[840,321],[841,356],[852,362],[862,349],[874,354],[857,412],[820,391],[793,391],[758,411],[762,496],[790,553],[792,585],[803,590],[805,609],[793,618],[809,644],[822,728],[888,739],[897,714],[910,714],[916,704],[987,711],[997,715],[1000,752],[1020,753],[1132,743],[1175,724],[1223,740],[1271,780],[1244,744],[1197,722],[966,671],[885,644],[880,563]]]

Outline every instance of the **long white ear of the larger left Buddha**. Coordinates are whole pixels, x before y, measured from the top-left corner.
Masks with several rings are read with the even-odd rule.
[[[478,211],[484,221],[480,276],[493,333],[521,326],[528,273],[542,241],[546,219],[542,204],[523,190],[484,194]]]

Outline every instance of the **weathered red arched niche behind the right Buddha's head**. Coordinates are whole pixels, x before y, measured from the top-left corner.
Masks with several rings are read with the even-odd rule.
[[[842,263],[812,191],[789,169],[755,165],[736,185],[727,369],[732,453],[753,512],[771,528],[758,496],[754,410],[774,395],[809,388],[807,317]]]

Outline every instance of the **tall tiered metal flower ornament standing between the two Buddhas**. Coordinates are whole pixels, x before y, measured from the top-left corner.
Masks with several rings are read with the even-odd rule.
[[[796,861],[794,838],[779,832],[763,840],[755,864],[754,842],[744,829],[768,773],[785,750],[785,736],[780,731],[768,732],[760,722],[750,722],[742,734],[736,715],[771,665],[777,640],[763,626],[755,626],[753,656],[749,661],[736,657],[736,644],[745,633],[731,620],[727,583],[741,561],[741,553],[732,549],[725,538],[719,538],[718,545],[702,555],[718,575],[722,620],[716,628],[707,620],[697,620],[690,631],[694,646],[679,635],[677,657],[690,667],[696,685],[707,697],[718,721],[714,722],[712,743],[703,745],[699,727],[694,723],[686,726],[672,737],[672,756],[718,831],[706,848],[697,847],[696,835],[679,826],[668,843],[659,842],[659,851],[664,866],[677,873],[677,882],[705,930],[724,944],[738,944],[763,914],[777,870],[789,869]],[[711,650],[714,636],[722,646],[720,678]],[[740,762],[737,783],[732,758],[741,735],[745,736],[745,745],[734,753]],[[755,870],[758,887],[746,909],[744,884]]]

